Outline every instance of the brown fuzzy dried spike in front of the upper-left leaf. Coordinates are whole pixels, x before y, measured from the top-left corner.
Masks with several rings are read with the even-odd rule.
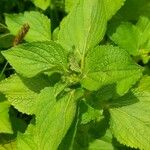
[[[21,30],[18,32],[18,34],[16,35],[14,42],[13,42],[13,46],[18,45],[20,42],[22,42],[22,40],[24,39],[24,37],[26,36],[27,32],[29,31],[30,26],[29,24],[25,23]]]

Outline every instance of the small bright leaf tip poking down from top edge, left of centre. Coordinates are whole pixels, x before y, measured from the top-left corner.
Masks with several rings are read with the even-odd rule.
[[[47,9],[51,4],[51,0],[32,0],[32,1],[37,7],[43,10]]]

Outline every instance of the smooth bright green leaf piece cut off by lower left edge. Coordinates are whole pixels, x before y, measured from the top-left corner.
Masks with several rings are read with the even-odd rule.
[[[2,97],[2,95],[0,96]],[[9,102],[0,101],[0,133],[13,133],[9,119],[9,107]]]

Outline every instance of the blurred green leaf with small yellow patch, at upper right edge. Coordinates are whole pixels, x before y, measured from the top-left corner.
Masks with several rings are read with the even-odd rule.
[[[111,27],[112,29],[112,27]],[[113,30],[108,31],[110,39],[129,54],[138,56],[144,63],[148,63],[150,56],[150,20],[140,17],[136,25],[125,22]]]

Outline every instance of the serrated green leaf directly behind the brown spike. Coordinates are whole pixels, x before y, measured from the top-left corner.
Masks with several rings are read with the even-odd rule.
[[[5,19],[8,29],[13,35],[17,35],[25,23],[29,24],[30,29],[25,36],[25,40],[28,42],[50,41],[51,39],[50,20],[39,12],[6,14]]]

